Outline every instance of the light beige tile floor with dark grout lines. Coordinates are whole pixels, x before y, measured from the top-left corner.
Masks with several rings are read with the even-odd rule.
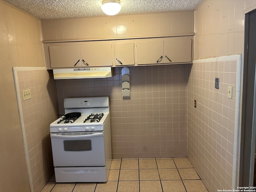
[[[41,192],[208,192],[188,158],[114,159],[106,183],[56,183]]]

